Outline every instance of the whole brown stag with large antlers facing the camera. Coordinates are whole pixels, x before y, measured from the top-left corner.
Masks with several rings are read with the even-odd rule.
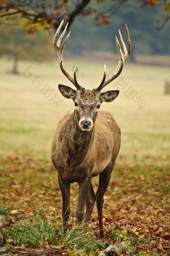
[[[62,53],[70,36],[70,32],[61,44],[65,35],[66,24],[61,36],[58,35],[63,21],[58,27],[53,39],[53,46],[56,51],[60,69],[68,80],[75,86],[76,90],[65,85],[58,85],[63,97],[72,99],[75,105],[73,113],[64,115],[58,122],[54,133],[51,160],[58,173],[58,183],[62,195],[62,221],[63,230],[67,230],[67,223],[70,214],[70,184],[78,183],[78,202],[76,207],[76,218],[78,223],[87,224],[96,201],[99,222],[99,237],[102,238],[102,206],[103,195],[108,187],[111,172],[120,148],[120,128],[112,114],[100,110],[102,102],[113,101],[119,91],[100,92],[107,84],[113,81],[122,71],[124,61],[131,53],[131,45],[127,26],[126,37],[128,49],[126,49],[121,33],[120,40],[124,54],[121,51],[117,37],[115,36],[117,51],[119,55],[118,65],[111,78],[105,81],[106,68],[100,85],[93,90],[81,87],[76,79],[76,66],[73,78],[66,71],[63,64]],[[61,44],[61,45],[60,45]],[[99,183],[94,193],[91,177],[99,175]],[[86,211],[84,216],[84,205]]]

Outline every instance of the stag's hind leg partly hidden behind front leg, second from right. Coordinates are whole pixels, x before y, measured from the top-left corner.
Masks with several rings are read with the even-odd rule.
[[[90,188],[88,191],[88,195],[87,195],[87,199],[86,199],[86,211],[85,211],[85,218],[84,218],[84,222],[87,223],[91,217],[91,213],[94,207],[94,203],[95,203],[95,194],[92,188],[92,184],[90,183]]]

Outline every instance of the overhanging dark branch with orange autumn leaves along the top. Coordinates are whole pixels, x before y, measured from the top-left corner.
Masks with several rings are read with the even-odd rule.
[[[91,14],[95,14],[97,25],[101,22],[107,25],[109,24],[109,18],[127,2],[132,4],[130,0],[3,0],[0,3],[0,18],[6,23],[10,21],[9,17],[12,21],[18,17],[26,19],[27,22],[24,22],[24,26],[30,27],[30,34],[34,33],[38,27],[46,29],[53,27],[56,29],[62,19],[69,22],[68,26],[70,26],[76,16],[85,17]],[[141,8],[145,6],[150,8],[163,7],[166,14],[164,14],[162,24],[157,27],[158,29],[161,29],[170,18],[170,2],[166,0],[138,0],[138,3]],[[7,19],[5,20],[5,18]]]

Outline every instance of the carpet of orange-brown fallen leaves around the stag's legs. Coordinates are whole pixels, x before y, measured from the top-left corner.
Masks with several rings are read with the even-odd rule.
[[[56,216],[61,221],[61,194],[57,174],[50,161],[27,156],[1,159],[0,180],[0,208],[4,205],[10,207],[6,215],[0,212],[5,217],[5,230],[20,219],[24,223],[29,222],[31,216],[42,207],[45,209],[42,214],[45,221],[50,223]],[[92,180],[94,190],[97,189],[97,182],[95,177]],[[74,212],[77,196],[77,184],[73,183],[69,227],[76,224]],[[104,195],[103,226],[105,236],[99,241],[108,244],[125,241],[129,255],[169,255],[169,166],[115,167]],[[99,238],[96,206],[89,231],[96,240]],[[10,246],[14,241],[8,239],[7,243]],[[54,245],[48,238],[42,243],[35,243],[31,248],[24,244],[21,247],[24,255],[40,253],[51,256],[73,255],[75,248],[69,250],[63,244]],[[94,249],[93,252],[101,249],[104,247]],[[18,248],[16,250],[11,253],[22,254]],[[86,248],[86,254],[90,253],[92,250]]]

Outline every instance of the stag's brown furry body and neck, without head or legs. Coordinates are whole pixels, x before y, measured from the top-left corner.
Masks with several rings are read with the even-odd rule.
[[[78,182],[84,172],[92,170],[95,162],[116,157],[120,147],[120,129],[113,116],[99,111],[95,129],[83,132],[74,129],[74,113],[62,117],[52,143],[52,163],[63,180]],[[110,161],[111,161],[110,157]]]

